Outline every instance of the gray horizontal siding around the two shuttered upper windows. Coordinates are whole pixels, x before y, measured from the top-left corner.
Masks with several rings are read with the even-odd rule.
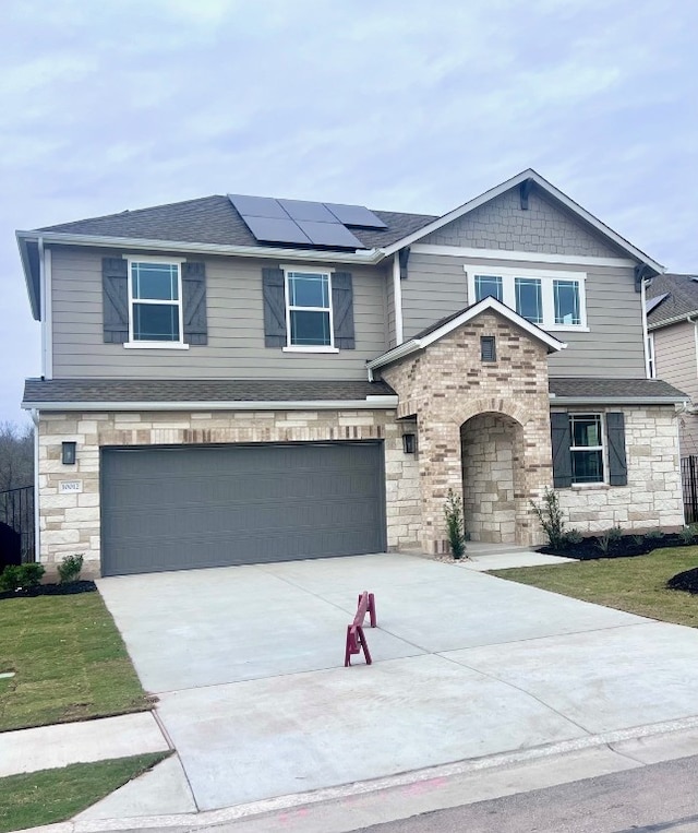
[[[109,255],[120,253],[76,248],[53,250],[56,378],[364,379],[366,359],[387,347],[383,270],[348,269],[353,275],[357,348],[338,354],[300,355],[264,346],[262,267],[270,263],[233,258],[204,259],[206,346],[191,346],[189,350],[137,350],[105,344],[101,258]]]

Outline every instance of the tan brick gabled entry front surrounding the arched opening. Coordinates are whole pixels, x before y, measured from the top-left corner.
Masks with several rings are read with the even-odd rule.
[[[496,338],[496,362],[481,361],[483,335]],[[552,481],[546,347],[488,312],[383,368],[382,377],[399,395],[398,417],[418,420],[423,548],[448,550],[444,502],[449,489],[462,493],[460,427],[479,414],[505,415],[522,427],[516,540],[538,543],[528,500]]]

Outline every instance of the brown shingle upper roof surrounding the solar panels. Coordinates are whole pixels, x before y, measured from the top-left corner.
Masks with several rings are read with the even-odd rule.
[[[366,249],[389,246],[435,219],[431,214],[374,213],[386,224],[386,229],[351,229]],[[256,240],[230,200],[220,195],[61,223],[37,230],[220,246],[266,246]]]

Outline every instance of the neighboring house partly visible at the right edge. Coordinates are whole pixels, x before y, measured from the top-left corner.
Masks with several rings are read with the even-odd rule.
[[[658,275],[646,310],[649,376],[690,396],[678,417],[681,453],[698,454],[698,277]]]

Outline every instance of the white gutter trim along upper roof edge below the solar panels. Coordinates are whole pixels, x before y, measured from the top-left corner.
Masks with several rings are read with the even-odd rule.
[[[148,240],[140,237],[108,237],[106,235],[72,235],[62,231],[17,231],[17,240],[38,240],[43,237],[46,243],[62,243],[64,246],[86,246],[107,249],[130,249],[149,251],[179,251],[196,254],[237,254],[244,258],[287,259],[312,262],[361,263],[373,265],[383,260],[381,249],[365,251],[340,252],[309,249],[274,249],[266,246],[227,246],[222,243],[192,243],[181,240]]]

